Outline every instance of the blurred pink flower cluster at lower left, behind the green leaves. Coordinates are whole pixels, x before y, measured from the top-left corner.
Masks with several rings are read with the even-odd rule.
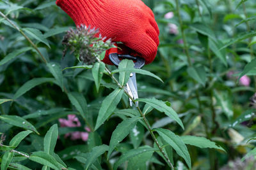
[[[81,127],[81,122],[76,117],[76,115],[68,115],[68,119],[59,118],[60,126],[61,127]],[[87,141],[88,139],[88,132],[91,132],[89,127],[84,127],[87,132],[70,132],[65,134],[64,138],[68,138],[71,136],[71,140],[75,141],[77,139],[82,139],[83,141]]]

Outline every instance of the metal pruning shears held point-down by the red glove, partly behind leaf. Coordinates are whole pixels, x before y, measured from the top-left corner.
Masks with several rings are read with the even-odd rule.
[[[113,64],[118,67],[119,63],[121,62],[122,59],[129,59],[134,62],[134,68],[136,69],[141,69],[145,65],[145,59],[141,57],[133,57],[128,54],[118,54],[117,52],[115,53],[109,53],[109,59]],[[138,99],[138,89],[137,89],[137,81],[136,81],[136,73],[131,73],[130,78],[126,84],[127,92],[129,95],[134,99]],[[130,101],[130,106],[132,106],[132,100],[129,99]],[[135,102],[135,106],[138,107],[138,101]]]

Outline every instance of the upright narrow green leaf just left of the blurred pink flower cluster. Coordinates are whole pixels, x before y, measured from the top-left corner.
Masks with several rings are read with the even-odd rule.
[[[58,125],[54,124],[44,137],[44,152],[53,156],[54,148],[58,139]]]

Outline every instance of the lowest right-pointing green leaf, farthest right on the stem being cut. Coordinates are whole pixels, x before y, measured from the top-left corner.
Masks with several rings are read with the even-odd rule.
[[[216,143],[210,141],[209,139],[198,137],[198,136],[181,136],[180,137],[185,144],[197,146],[199,148],[214,148],[218,150],[223,150],[226,152],[221,146],[217,146]]]

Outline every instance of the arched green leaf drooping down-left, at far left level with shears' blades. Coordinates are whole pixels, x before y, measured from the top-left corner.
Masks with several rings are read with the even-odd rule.
[[[46,82],[55,83],[54,78],[33,78],[32,80],[27,81],[26,83],[24,83],[24,85],[22,85],[22,87],[17,90],[17,92],[13,96],[13,99],[17,99],[18,97],[31,90],[33,87],[36,87],[37,85]]]

